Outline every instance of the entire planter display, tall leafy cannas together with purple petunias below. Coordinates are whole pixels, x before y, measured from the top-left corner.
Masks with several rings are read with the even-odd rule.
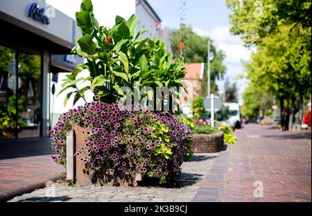
[[[74,96],[73,105],[85,92],[94,93],[94,101],[71,109],[60,117],[51,130],[51,143],[56,154],[53,160],[66,165],[66,133],[73,123],[83,136],[83,146],[76,159],[83,163],[85,174],[93,183],[118,186],[120,179],[133,186],[135,175],[153,177],[160,183],[173,182],[180,166],[190,154],[189,129],[168,112],[153,112],[135,108],[121,110],[118,102],[124,92],[121,87],[183,87],[185,75],[183,57],[173,61],[164,42],[141,38],[147,29],[135,35],[137,17],[125,21],[116,17],[112,28],[99,26],[92,2],[84,0],[76,13],[83,37],[73,53],[86,59],[63,80],[67,93],[64,105]],[[87,69],[87,78],[78,74]],[[89,83],[79,88],[79,82]],[[81,134],[80,134],[81,135]],[[119,180],[116,180],[119,179]]]

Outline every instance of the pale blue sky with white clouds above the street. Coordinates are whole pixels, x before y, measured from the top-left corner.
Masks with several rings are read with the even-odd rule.
[[[45,0],[51,6],[64,12],[69,17],[74,18],[75,12],[80,8],[80,0]],[[114,17],[105,17],[107,8],[116,10],[116,14],[125,15],[131,13],[129,10],[130,0],[119,0],[123,3],[115,6],[116,1],[110,0],[94,0],[94,8],[98,10],[95,14],[100,15],[103,19],[112,19]],[[198,35],[209,36],[214,40],[214,44],[218,49],[225,52],[225,66],[227,67],[227,75],[231,82],[237,82],[239,87],[239,103],[242,103],[241,94],[247,86],[247,80],[237,80],[236,77],[243,73],[241,61],[250,60],[251,51],[243,46],[239,36],[233,36],[229,33],[229,10],[225,6],[225,0],[147,0],[154,8],[155,12],[162,19],[162,28],[169,26],[170,28],[178,28],[180,24],[179,8],[185,1],[185,21],[190,24]],[[105,3],[107,2],[107,3]],[[117,3],[117,2],[116,2]],[[103,5],[105,7],[103,7]],[[121,6],[120,6],[121,5]],[[106,7],[107,6],[107,7]],[[103,11],[103,12],[102,12]],[[105,12],[106,11],[106,12]],[[101,24],[101,20],[100,24]],[[203,44],[203,46],[207,46]],[[217,82],[220,91],[223,91],[223,83]]]

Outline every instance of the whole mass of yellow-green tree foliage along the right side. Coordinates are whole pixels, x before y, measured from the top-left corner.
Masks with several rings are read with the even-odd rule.
[[[311,98],[311,0],[226,2],[232,11],[232,33],[241,35],[245,46],[257,46],[246,64],[251,83],[243,113],[255,116],[265,111],[267,96],[279,100],[288,116],[302,110],[304,100]]]

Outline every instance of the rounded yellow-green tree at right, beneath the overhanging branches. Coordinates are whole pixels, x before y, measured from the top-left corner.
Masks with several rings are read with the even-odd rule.
[[[279,99],[290,127],[296,111],[301,123],[304,99],[311,97],[311,36],[303,32],[295,24],[279,27],[277,34],[263,38],[245,65],[247,78]]]

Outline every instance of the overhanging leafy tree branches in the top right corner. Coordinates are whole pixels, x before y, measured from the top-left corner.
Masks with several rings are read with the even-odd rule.
[[[283,25],[300,26],[311,35],[311,0],[226,0],[231,32],[246,46],[259,44]]]

